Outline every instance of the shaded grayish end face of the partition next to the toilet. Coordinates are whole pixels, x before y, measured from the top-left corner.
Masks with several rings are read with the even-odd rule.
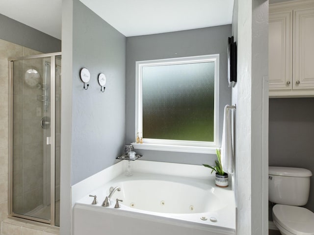
[[[268,76],[268,0],[254,0],[252,9],[251,234],[262,235],[268,234],[268,83],[263,91],[263,76]]]

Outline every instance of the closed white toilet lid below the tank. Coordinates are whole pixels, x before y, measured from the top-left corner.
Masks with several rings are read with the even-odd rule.
[[[303,207],[277,204],[273,207],[273,219],[295,235],[314,235],[314,213]]]

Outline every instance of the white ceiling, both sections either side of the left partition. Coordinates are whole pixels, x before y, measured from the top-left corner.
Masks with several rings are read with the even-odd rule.
[[[127,37],[231,24],[234,0],[80,0]],[[1,0],[0,14],[61,39],[62,0]]]

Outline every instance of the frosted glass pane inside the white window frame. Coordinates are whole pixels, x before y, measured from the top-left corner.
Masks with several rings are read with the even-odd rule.
[[[215,62],[142,67],[143,138],[214,141]]]

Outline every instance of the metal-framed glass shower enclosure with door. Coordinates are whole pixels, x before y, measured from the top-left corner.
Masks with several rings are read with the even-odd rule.
[[[9,59],[9,214],[59,226],[61,53]]]

